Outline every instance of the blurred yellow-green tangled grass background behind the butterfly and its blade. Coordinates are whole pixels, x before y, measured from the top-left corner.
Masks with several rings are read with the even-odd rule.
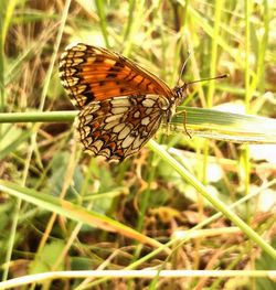
[[[191,52],[182,80],[224,73],[230,77],[193,85],[183,105],[220,105],[232,112],[275,118],[274,1],[1,0],[0,4],[2,112],[74,110],[59,79],[59,56],[67,44],[82,41],[137,61],[171,87]],[[125,269],[137,261],[138,269],[275,269],[275,259],[225,217],[205,226],[212,234],[200,232],[181,246],[171,244],[170,255],[148,257],[155,247],[149,246],[151,239],[169,243],[216,211],[149,148],[121,164],[109,164],[84,154],[73,132],[70,122],[0,125],[0,178],[21,186],[9,185],[21,198],[0,192],[2,280],[57,269]],[[275,146],[190,139],[184,132],[156,139],[225,204],[252,196],[234,211],[275,245]],[[24,198],[31,195],[29,189],[34,191],[35,206]],[[74,210],[78,217],[66,218],[63,205],[51,212],[56,201],[47,201],[45,194],[78,205]],[[79,217],[84,208],[94,213],[95,227]],[[105,230],[97,214],[128,228],[114,224]],[[129,238],[131,229],[142,236]],[[42,288],[275,289],[269,279],[248,277],[85,284],[81,279],[55,280]]]

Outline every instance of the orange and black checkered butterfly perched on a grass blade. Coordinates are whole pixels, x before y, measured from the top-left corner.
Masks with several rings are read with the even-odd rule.
[[[187,84],[170,88],[135,62],[109,50],[77,43],[65,49],[60,78],[79,109],[76,130],[93,157],[123,161],[169,122]]]

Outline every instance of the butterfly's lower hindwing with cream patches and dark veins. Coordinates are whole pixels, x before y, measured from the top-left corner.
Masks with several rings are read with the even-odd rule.
[[[166,98],[139,95],[93,101],[78,115],[78,138],[92,155],[124,160],[137,153],[168,118]]]

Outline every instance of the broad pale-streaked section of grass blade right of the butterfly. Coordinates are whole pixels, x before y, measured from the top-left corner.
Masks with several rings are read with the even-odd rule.
[[[187,128],[192,136],[236,143],[276,143],[276,120],[201,108],[179,108],[187,111]],[[171,131],[184,131],[184,116],[172,119]]]

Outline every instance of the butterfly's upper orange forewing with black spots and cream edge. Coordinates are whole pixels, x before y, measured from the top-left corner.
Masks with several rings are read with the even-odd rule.
[[[123,55],[83,43],[62,54],[60,77],[78,108],[110,97],[173,94],[164,82]]]

